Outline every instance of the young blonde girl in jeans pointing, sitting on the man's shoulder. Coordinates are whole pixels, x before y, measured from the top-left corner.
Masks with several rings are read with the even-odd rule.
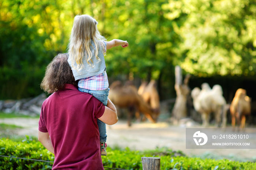
[[[98,22],[89,15],[77,15],[68,44],[68,63],[72,68],[75,80],[78,81],[80,92],[86,92],[105,106],[108,102],[109,83],[106,73],[104,54],[107,49],[122,46],[128,47],[128,42],[113,39],[106,41],[98,31]],[[101,155],[106,152],[106,124],[98,120]]]

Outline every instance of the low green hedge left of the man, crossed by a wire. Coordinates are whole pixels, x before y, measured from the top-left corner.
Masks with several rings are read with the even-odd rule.
[[[54,161],[54,155],[46,150],[40,142],[29,138],[29,136],[19,142],[15,142],[10,139],[1,139],[0,155],[8,156],[0,157],[0,170],[46,170],[52,169],[53,163],[32,161],[27,159]]]

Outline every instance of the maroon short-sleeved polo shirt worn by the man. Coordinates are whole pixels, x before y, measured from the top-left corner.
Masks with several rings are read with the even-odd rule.
[[[38,130],[48,132],[54,148],[52,169],[104,170],[97,118],[105,106],[71,84],[43,103]]]

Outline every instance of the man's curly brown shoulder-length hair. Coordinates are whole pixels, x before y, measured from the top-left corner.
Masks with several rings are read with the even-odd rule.
[[[77,83],[67,60],[67,53],[58,54],[53,58],[46,67],[45,77],[41,82],[41,89],[48,93],[54,93],[64,89],[65,84],[73,84],[77,87]]]

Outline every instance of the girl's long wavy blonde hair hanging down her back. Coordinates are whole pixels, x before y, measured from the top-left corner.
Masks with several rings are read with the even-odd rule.
[[[68,53],[71,58],[71,65],[73,69],[78,72],[83,69],[83,57],[87,63],[91,67],[95,67],[91,57],[95,55],[95,57],[100,61],[98,57],[98,50],[102,50],[103,54],[105,51],[103,50],[104,43],[106,40],[104,36],[102,36],[97,28],[98,22],[89,15],[76,15],[74,18],[74,23],[71,31],[71,35],[69,38],[68,44]],[[95,54],[92,54],[90,47],[91,40],[93,40],[95,44]],[[91,61],[91,62],[90,62]],[[74,66],[74,63],[77,64],[77,67]]]

